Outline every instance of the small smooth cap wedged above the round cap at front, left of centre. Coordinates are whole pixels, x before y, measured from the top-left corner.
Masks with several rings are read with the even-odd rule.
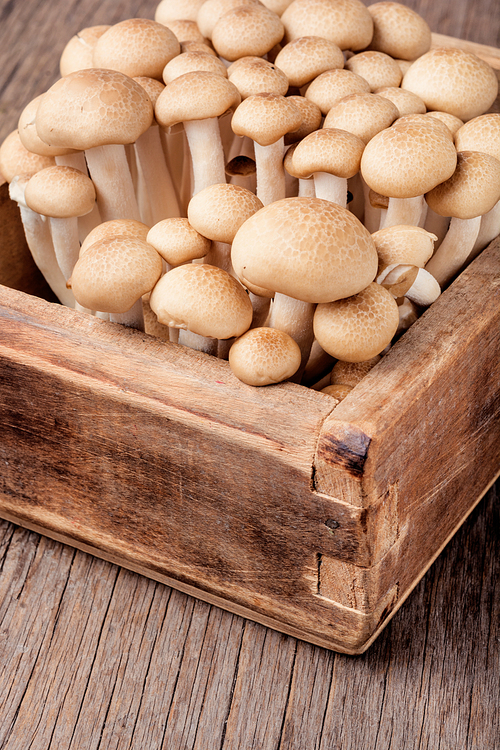
[[[146,239],[171,266],[204,258],[212,244],[188,219],[180,216],[159,221],[151,227]]]

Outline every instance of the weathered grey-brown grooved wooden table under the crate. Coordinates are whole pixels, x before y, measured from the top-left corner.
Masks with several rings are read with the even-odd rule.
[[[498,0],[406,0],[500,46]],[[0,2],[0,138],[79,29],[156,3]],[[500,748],[498,483],[371,649],[280,635],[0,521],[0,748]]]

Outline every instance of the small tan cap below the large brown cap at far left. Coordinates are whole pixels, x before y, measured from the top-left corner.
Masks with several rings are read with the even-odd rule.
[[[94,183],[83,172],[56,165],[36,172],[26,185],[24,197],[32,211],[65,219],[90,213],[96,193]]]

